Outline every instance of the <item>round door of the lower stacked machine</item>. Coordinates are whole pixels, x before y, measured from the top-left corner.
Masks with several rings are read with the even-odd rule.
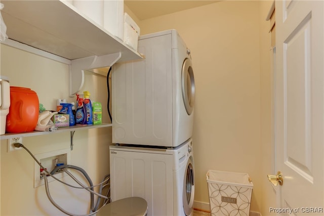
[[[183,210],[186,215],[190,215],[193,210],[193,198],[194,198],[194,173],[193,173],[193,162],[189,157],[187,168],[184,175],[183,182]]]

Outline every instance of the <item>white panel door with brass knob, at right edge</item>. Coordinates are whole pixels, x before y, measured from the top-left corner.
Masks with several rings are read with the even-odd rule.
[[[276,1],[275,10],[277,203],[286,215],[324,215],[323,1]]]

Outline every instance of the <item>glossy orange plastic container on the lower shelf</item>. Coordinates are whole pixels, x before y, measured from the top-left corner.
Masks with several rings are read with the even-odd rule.
[[[10,87],[10,108],[6,121],[7,133],[34,131],[39,114],[37,94],[23,87]]]

